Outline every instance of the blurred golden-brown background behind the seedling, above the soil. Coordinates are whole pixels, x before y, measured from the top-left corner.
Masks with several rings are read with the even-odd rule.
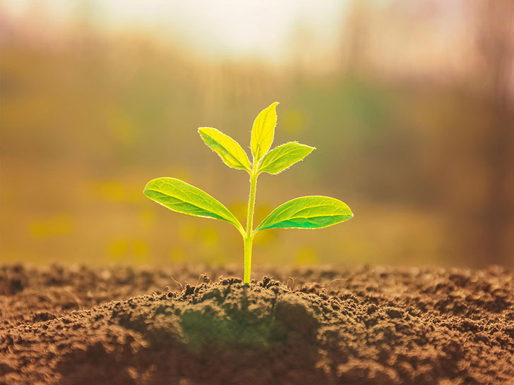
[[[354,219],[263,231],[256,264],[513,264],[510,0],[0,1],[0,259],[241,262],[221,221],[145,198],[159,176],[244,222],[249,181],[199,138],[317,147],[259,179],[256,224],[301,195]]]

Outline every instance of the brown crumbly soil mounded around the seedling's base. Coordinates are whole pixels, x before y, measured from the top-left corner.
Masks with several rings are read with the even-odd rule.
[[[513,271],[240,274],[3,265],[0,384],[513,384]]]

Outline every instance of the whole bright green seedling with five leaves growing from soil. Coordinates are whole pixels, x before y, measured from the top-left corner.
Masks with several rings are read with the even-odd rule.
[[[244,282],[250,282],[253,237],[267,228],[323,228],[352,218],[349,207],[331,197],[299,197],[281,204],[253,229],[253,208],[257,177],[261,173],[276,175],[309,155],[314,147],[288,142],[270,151],[277,124],[277,102],[263,109],[253,121],[251,154],[253,161],[238,142],[215,128],[198,128],[201,138],[227,166],[244,170],[250,175],[250,196],[246,228],[227,207],[208,193],[175,178],[157,178],[145,186],[143,193],[151,200],[174,212],[205,218],[221,219],[234,225],[244,240]]]

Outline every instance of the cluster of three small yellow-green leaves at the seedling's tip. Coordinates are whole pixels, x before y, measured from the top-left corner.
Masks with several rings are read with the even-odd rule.
[[[277,102],[261,111],[253,122],[251,130],[251,154],[253,155],[253,172],[277,174],[309,155],[314,147],[289,142],[268,150],[273,143],[275,125],[277,124]],[[198,128],[198,133],[206,145],[213,149],[227,166],[252,173],[250,159],[244,149],[234,139],[219,130],[210,127]]]

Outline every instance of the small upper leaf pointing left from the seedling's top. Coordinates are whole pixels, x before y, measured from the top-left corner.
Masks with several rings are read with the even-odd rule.
[[[201,138],[211,149],[220,155],[222,161],[233,169],[251,171],[250,159],[241,145],[220,130],[210,127],[198,128]]]

